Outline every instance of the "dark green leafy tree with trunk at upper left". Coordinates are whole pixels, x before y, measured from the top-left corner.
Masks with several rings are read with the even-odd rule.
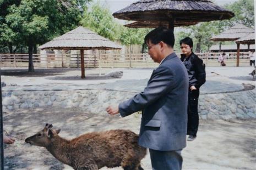
[[[13,44],[16,41],[18,44],[28,46],[29,72],[33,72],[32,52],[36,44],[45,43],[77,27],[81,19],[79,6],[85,5],[88,1],[21,0],[19,4],[8,7],[8,14],[2,21],[4,27],[0,33],[7,35]]]

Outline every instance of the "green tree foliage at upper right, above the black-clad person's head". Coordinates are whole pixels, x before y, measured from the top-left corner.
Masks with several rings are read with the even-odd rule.
[[[185,31],[186,33],[181,31],[183,34],[187,34],[193,38],[193,50],[195,52],[208,51],[209,48],[216,43],[209,40],[211,37],[237,23],[254,27],[253,0],[238,0],[231,4],[225,4],[224,8],[233,12],[235,16],[230,20],[201,22],[200,24],[189,26]],[[182,35],[182,33],[179,33],[179,35]],[[175,47],[177,48],[177,44]]]

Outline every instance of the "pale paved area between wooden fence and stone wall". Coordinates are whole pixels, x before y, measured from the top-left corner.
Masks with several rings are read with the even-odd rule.
[[[79,69],[27,69],[2,70],[3,90],[66,90],[66,89],[110,89],[139,92],[144,89],[153,69],[89,69],[86,78],[80,78]],[[225,93],[243,90],[243,84],[255,86],[249,72],[253,67],[206,67],[206,83],[201,94]],[[105,73],[123,71],[122,78],[110,78]],[[103,76],[99,76],[99,73]],[[12,87],[13,86],[13,87]]]

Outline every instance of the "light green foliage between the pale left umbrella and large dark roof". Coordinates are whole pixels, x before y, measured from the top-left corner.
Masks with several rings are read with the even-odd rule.
[[[99,1],[85,8],[81,24],[99,35],[124,45],[143,44],[144,37],[150,29],[130,29],[119,24],[110,10]]]

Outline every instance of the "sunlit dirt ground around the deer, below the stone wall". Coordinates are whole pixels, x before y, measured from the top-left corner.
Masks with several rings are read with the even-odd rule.
[[[72,169],[56,160],[45,148],[25,144],[26,137],[40,131],[46,122],[61,128],[61,137],[108,129],[139,132],[140,115],[125,118],[100,116],[83,110],[50,108],[4,112],[4,127],[16,139],[4,146],[5,169]],[[200,121],[198,137],[182,151],[183,169],[255,169],[256,120]],[[141,166],[151,169],[149,154]],[[107,168],[102,168],[107,169]],[[121,167],[113,168],[115,170]]]

